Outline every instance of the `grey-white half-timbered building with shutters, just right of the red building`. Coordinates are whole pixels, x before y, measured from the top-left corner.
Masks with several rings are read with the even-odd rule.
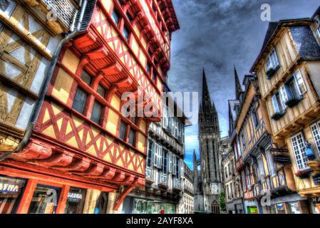
[[[145,187],[136,188],[125,199],[125,213],[182,213],[187,118],[172,97],[163,101],[162,121],[149,126]]]

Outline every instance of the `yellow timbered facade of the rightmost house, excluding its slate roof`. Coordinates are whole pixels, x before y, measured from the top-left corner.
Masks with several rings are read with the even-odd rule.
[[[299,24],[306,26],[306,24]],[[266,65],[267,58],[272,50],[277,53],[279,70],[267,78]],[[320,161],[319,151],[316,146],[315,135],[311,132],[311,125],[320,119],[320,99],[319,99],[319,73],[320,61],[307,61],[301,59],[296,49],[291,30],[286,24],[282,25],[277,33],[266,46],[261,58],[258,59],[253,71],[257,73],[259,88],[262,99],[266,102],[269,114],[269,121],[272,126],[272,135],[284,147],[289,150],[291,165],[286,165],[284,169],[287,175],[291,175],[288,185],[296,186],[296,191],[302,197],[319,197],[320,187],[315,185],[312,176],[316,172],[311,172],[307,177],[300,177],[298,172],[310,170],[306,158],[306,142],[311,144],[311,149],[316,156],[316,161]],[[281,88],[285,88],[295,74],[301,75],[299,84],[304,85],[300,100],[294,105],[284,105],[284,113],[279,118],[274,118],[276,108],[274,108],[274,97],[281,95]],[[301,82],[303,81],[303,83]],[[291,87],[290,87],[291,88]],[[304,89],[305,88],[305,89]],[[300,90],[301,91],[301,90]],[[286,92],[288,93],[288,92]],[[299,92],[301,93],[301,92]],[[284,100],[283,97],[281,97]],[[320,163],[319,163],[320,164]],[[291,170],[291,172],[290,172]],[[309,171],[307,171],[309,172]],[[272,180],[276,182],[277,180]]]

